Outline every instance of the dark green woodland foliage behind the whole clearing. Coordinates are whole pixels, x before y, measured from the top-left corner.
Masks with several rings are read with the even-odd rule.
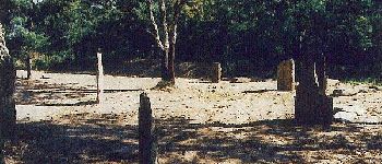
[[[119,69],[160,59],[145,0],[0,0],[0,21],[20,66]],[[382,79],[382,2],[378,0],[192,0],[181,12],[176,61],[219,61],[226,72],[272,70],[283,59],[324,54],[332,78]],[[303,34],[302,45],[300,45]],[[303,47],[303,51],[299,50]]]

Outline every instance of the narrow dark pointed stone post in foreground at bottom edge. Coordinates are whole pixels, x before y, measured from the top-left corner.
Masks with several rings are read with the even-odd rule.
[[[157,163],[157,142],[150,98],[146,93],[140,95],[139,108],[139,157],[140,164]]]

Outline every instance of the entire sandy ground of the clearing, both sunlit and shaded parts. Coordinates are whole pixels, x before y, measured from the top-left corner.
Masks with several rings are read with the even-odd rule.
[[[382,87],[329,81],[335,124],[293,122],[294,92],[276,81],[213,84],[177,79],[105,78],[95,104],[95,77],[17,71],[15,139],[9,163],[136,163],[139,94],[151,97],[159,129],[159,163],[382,163]]]

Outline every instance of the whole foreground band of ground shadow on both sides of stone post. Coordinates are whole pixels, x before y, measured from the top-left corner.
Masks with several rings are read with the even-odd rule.
[[[77,114],[60,121],[20,122],[17,139],[7,144],[5,154],[16,163],[136,163],[138,128],[123,126],[123,119]],[[357,157],[358,150],[382,149],[379,126],[335,124],[323,129],[291,120],[199,125],[179,117],[156,125],[163,163],[307,163],[335,160],[331,155],[336,154],[359,163],[367,157]]]

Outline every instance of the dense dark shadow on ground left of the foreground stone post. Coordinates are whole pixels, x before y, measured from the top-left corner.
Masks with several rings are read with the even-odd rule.
[[[112,120],[22,122],[19,124],[17,139],[8,151],[23,163],[136,161],[136,127],[110,125]]]

